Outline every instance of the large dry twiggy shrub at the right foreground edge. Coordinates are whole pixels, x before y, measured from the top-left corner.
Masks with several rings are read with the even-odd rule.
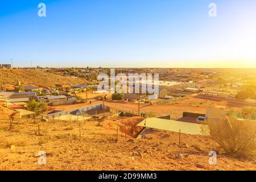
[[[209,134],[229,155],[247,157],[256,152],[256,122],[234,117],[208,119],[203,133]]]

